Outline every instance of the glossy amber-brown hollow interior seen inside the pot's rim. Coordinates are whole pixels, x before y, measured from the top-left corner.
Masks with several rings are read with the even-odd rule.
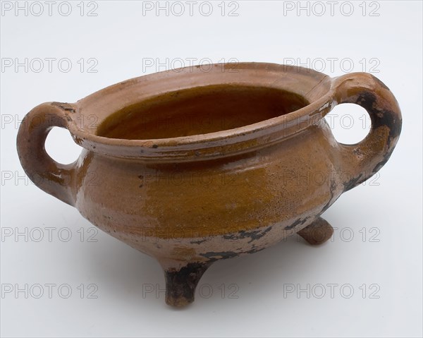
[[[274,87],[193,87],[116,111],[100,123],[97,135],[151,140],[214,133],[288,114],[307,104],[304,97]]]

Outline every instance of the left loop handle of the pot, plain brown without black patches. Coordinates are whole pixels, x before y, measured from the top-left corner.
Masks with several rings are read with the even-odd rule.
[[[46,102],[32,109],[20,124],[16,147],[20,164],[36,186],[69,205],[75,205],[72,182],[75,163],[60,164],[47,154],[45,140],[55,126],[68,128],[75,111],[68,103]]]

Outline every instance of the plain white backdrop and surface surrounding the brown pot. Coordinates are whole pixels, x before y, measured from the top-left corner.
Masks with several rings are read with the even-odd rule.
[[[25,15],[15,12],[15,1],[4,1],[3,9],[13,8],[1,13],[1,335],[421,337],[422,3],[344,3],[331,13],[327,1],[303,2],[309,11],[298,13],[297,1],[213,1],[207,16],[207,4],[200,11],[202,1],[196,1],[190,16],[183,1],[185,13],[178,16],[180,6],[171,3],[168,15],[157,15],[155,9],[143,13],[141,2],[75,1],[66,16],[68,6],[55,1],[49,16],[41,1],[44,12],[37,16],[37,4],[20,2]],[[97,16],[88,16],[90,10]],[[231,10],[238,16],[229,16]],[[16,68],[25,58],[27,69]],[[51,71],[46,58],[56,59]],[[66,60],[58,65],[66,58],[68,72]],[[325,212],[338,228],[331,241],[314,248],[293,236],[254,255],[216,262],[200,281],[195,303],[174,310],[164,303],[157,262],[93,232],[77,210],[25,179],[16,133],[19,120],[39,103],[75,102],[121,80],[189,66],[190,58],[194,64],[295,61],[330,76],[370,71],[396,95],[403,132],[379,175]],[[43,60],[41,71],[36,59]],[[336,107],[338,140],[366,135],[363,114],[360,107]],[[54,129],[47,150],[72,162],[80,148],[67,131]],[[35,228],[44,235],[40,241]],[[16,293],[25,284],[27,294]],[[40,298],[37,284],[44,290]],[[54,284],[51,296],[45,284]],[[328,284],[335,284],[333,294]]]

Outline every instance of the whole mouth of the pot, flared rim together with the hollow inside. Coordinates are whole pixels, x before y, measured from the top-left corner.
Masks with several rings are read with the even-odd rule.
[[[97,122],[73,123],[75,142],[153,162],[227,157],[290,138],[332,107],[332,80],[323,73],[254,62],[212,66],[149,74],[85,97],[75,111]]]

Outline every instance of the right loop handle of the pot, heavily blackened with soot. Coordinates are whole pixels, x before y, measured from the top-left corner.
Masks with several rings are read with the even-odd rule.
[[[369,134],[360,143],[338,143],[344,191],[348,191],[376,174],[391,157],[401,132],[402,117],[391,90],[369,73],[334,78],[333,89],[336,104],[358,104],[367,110],[372,121]]]

